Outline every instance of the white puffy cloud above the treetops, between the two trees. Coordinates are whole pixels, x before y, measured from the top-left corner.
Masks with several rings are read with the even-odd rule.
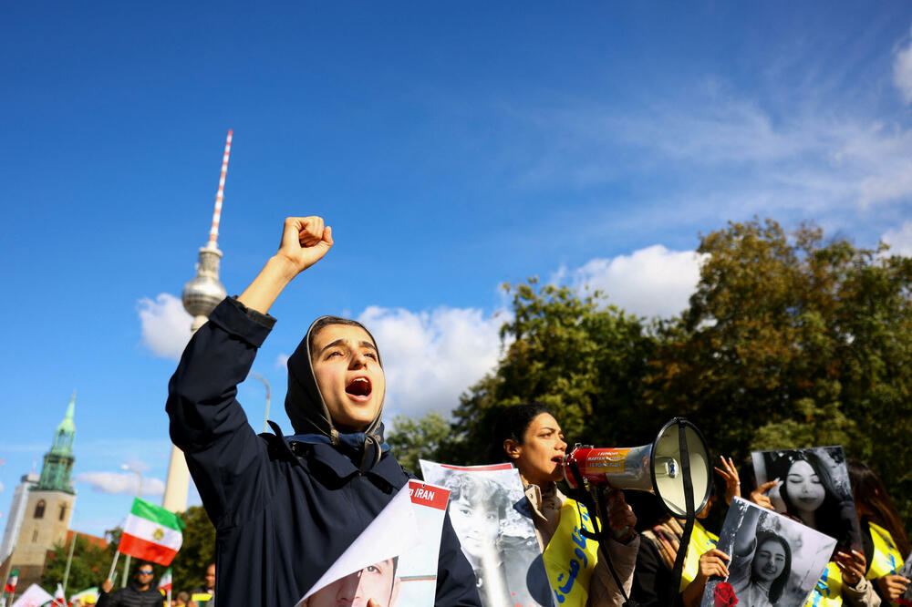
[[[627,313],[668,317],[688,306],[700,280],[700,255],[655,244],[629,255],[594,259],[573,271],[562,269],[556,277],[582,293],[605,293],[609,304]]]

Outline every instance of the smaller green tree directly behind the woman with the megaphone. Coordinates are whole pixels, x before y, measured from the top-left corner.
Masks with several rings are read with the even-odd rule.
[[[439,457],[483,463],[503,408],[532,401],[554,411],[570,444],[651,440],[649,433],[664,420],[644,415],[639,406],[655,347],[643,321],[608,305],[597,292],[580,298],[568,287],[541,286],[536,279],[504,288],[513,293],[513,319],[501,329],[505,355],[461,396],[451,441],[440,446]]]

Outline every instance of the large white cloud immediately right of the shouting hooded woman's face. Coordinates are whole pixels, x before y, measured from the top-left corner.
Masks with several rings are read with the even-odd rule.
[[[414,313],[370,306],[358,321],[380,346],[388,419],[451,411],[461,392],[493,369],[501,352],[503,317],[485,317],[477,309],[440,307]]]

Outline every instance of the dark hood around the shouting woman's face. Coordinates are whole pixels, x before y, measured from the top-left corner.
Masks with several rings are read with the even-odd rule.
[[[316,434],[328,437],[333,445],[339,445],[339,432],[333,423],[329,410],[326,408],[326,401],[320,393],[319,386],[316,385],[316,376],[314,375],[313,361],[310,358],[310,337],[314,327],[321,320],[329,318],[320,316],[307,329],[307,334],[301,343],[297,345],[295,353],[288,358],[288,391],[285,394],[285,413],[291,420],[292,427],[295,428],[295,434]],[[364,328],[364,327],[362,327]],[[367,328],[365,332],[370,336],[370,340],[377,345],[377,340],[370,334]],[[383,362],[380,359],[378,350],[377,360],[380,367]],[[386,395],[384,395],[386,396]],[[381,417],[383,415],[383,402],[377,410],[377,416],[374,417],[364,429],[368,437],[378,437],[379,442],[383,442],[383,425]]]

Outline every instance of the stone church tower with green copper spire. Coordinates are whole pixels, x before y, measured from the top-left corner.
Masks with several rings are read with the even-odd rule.
[[[69,400],[67,414],[54,432],[54,443],[45,454],[45,462],[36,485],[28,488],[26,507],[22,512],[16,545],[0,574],[19,570],[19,583],[28,588],[45,570],[47,550],[67,540],[69,520],[73,514],[76,490],[73,489],[73,439],[76,425],[76,394]],[[5,577],[4,577],[5,579]]]

